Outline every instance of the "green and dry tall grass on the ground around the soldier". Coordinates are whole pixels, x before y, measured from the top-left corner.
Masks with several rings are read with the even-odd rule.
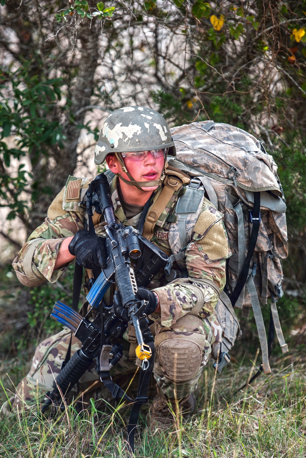
[[[284,359],[283,362],[286,360]],[[255,361],[254,361],[255,362]],[[244,391],[250,367],[234,366],[215,374],[204,370],[196,413],[179,419],[174,431],[156,435],[146,427],[142,410],[136,433],[136,457],[297,458],[306,456],[306,371],[303,363],[261,376]],[[5,381],[6,376],[2,376]],[[6,391],[3,388],[3,396]],[[77,413],[66,406],[55,419],[23,411],[0,420],[0,456],[10,458],[126,457],[125,426],[129,406],[98,403]],[[103,412],[102,412],[103,410]]]

